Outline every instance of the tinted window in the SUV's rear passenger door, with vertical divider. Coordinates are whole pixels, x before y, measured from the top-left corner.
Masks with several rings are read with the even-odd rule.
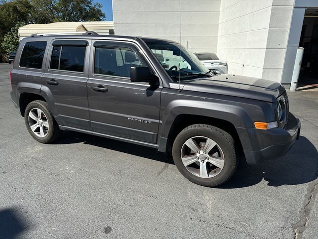
[[[84,72],[86,46],[54,46],[50,69]]]

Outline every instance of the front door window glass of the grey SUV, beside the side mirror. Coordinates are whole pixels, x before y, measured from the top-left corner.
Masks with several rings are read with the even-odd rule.
[[[147,66],[136,52],[127,47],[95,47],[94,73],[130,77],[132,66]]]

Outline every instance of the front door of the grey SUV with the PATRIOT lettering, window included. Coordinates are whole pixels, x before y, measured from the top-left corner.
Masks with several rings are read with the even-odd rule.
[[[130,81],[131,66],[149,66],[133,43],[96,40],[87,95],[94,132],[157,142],[160,86]]]

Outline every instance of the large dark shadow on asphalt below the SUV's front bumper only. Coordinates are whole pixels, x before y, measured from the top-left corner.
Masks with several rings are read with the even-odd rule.
[[[300,136],[286,156],[265,159],[258,166],[240,163],[233,178],[220,188],[241,188],[259,183],[268,186],[297,185],[318,178],[318,152],[306,137]]]

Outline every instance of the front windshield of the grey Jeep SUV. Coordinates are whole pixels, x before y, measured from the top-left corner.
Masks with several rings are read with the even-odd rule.
[[[190,80],[197,77],[211,77],[198,58],[180,44],[164,41],[147,41],[146,44],[173,81]]]

